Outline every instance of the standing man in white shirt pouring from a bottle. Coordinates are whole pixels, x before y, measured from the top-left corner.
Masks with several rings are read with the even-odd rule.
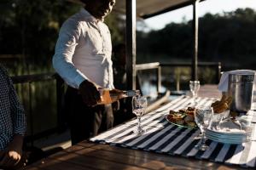
[[[83,0],[79,13],[61,26],[53,66],[69,87],[66,108],[72,144],[113,125],[111,105],[96,105],[98,88],[113,88],[112,44],[104,18],[115,0]],[[96,105],[96,106],[95,106]]]

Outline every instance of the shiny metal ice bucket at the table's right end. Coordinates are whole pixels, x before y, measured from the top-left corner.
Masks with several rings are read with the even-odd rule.
[[[254,74],[230,74],[228,95],[233,98],[230,111],[247,112],[251,109]]]

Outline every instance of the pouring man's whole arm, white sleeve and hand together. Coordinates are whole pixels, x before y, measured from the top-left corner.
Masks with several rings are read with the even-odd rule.
[[[100,99],[97,90],[99,86],[95,82],[91,82],[72,62],[81,34],[79,22],[68,20],[63,24],[56,42],[53,66],[69,86],[79,89],[85,104],[96,105],[97,100]]]

